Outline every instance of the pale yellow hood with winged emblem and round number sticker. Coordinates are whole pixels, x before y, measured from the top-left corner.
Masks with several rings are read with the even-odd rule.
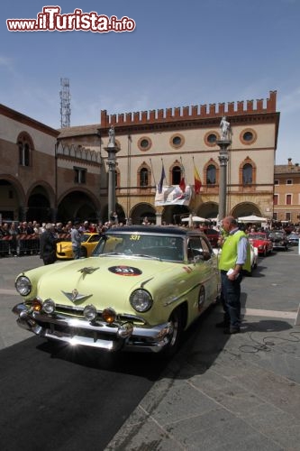
[[[112,307],[128,311],[128,299],[132,290],[138,288],[150,290],[152,294],[160,290],[162,296],[171,291],[174,296],[176,282],[186,273],[185,268],[184,263],[134,257],[90,257],[58,262],[25,272],[35,290],[27,299],[38,296],[62,305],[94,304],[100,309]],[[172,283],[174,290],[170,287]]]

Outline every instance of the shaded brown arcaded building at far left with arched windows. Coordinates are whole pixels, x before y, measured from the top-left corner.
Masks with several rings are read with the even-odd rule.
[[[99,211],[101,158],[58,148],[59,131],[0,105],[0,215],[67,221]]]

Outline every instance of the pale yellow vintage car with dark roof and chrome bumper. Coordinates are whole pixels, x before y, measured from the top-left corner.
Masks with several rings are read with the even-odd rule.
[[[37,336],[107,351],[173,354],[220,292],[207,237],[177,226],[108,230],[87,259],[16,278],[17,323]]]

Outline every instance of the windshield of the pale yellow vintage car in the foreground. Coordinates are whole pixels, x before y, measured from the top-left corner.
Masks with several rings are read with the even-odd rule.
[[[183,244],[183,239],[174,235],[107,233],[95,247],[93,256],[120,254],[182,262]]]

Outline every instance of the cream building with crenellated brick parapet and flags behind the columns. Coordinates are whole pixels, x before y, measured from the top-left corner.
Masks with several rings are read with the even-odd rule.
[[[93,148],[98,133],[102,155],[101,199],[107,198],[105,161],[108,130],[114,125],[117,153],[116,202],[119,218],[141,223],[180,221],[180,216],[195,213],[215,217],[219,208],[220,121],[226,115],[232,126],[227,174],[227,213],[234,216],[256,214],[272,217],[274,162],[277,148],[279,113],[277,93],[266,100],[248,100],[209,106],[186,106],[166,110],[107,115],[101,112],[100,124],[62,129],[59,145],[82,145]],[[192,196],[187,205],[165,199],[156,205],[156,190],[162,165],[166,173],[164,189],[172,194],[185,174]],[[202,188],[193,192],[194,169],[198,170]],[[107,203],[102,204],[107,217]]]

